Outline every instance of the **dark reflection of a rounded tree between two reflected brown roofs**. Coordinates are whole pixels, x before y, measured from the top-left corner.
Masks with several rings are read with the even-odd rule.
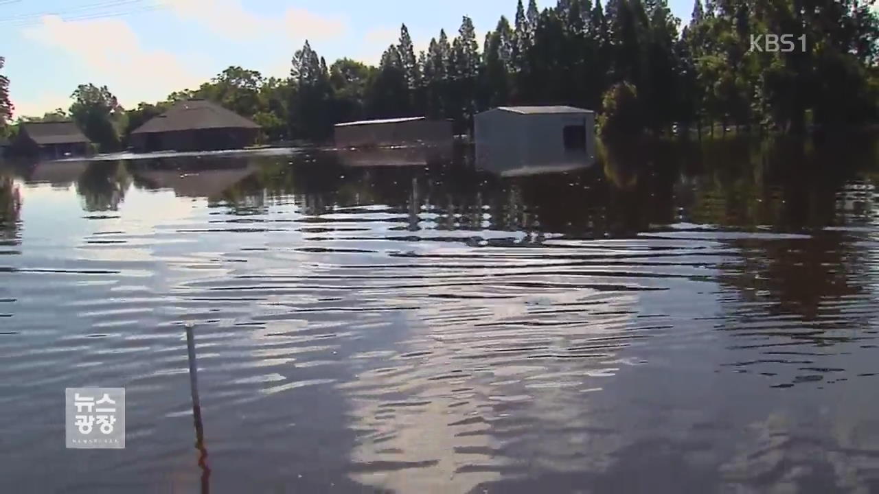
[[[93,162],[76,179],[76,192],[86,211],[115,211],[132,183],[121,162]]]

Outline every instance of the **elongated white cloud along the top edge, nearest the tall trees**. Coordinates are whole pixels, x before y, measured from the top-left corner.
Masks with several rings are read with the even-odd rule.
[[[162,0],[179,18],[198,22],[223,37],[251,40],[255,37],[284,36],[293,40],[321,40],[339,36],[347,21],[338,16],[321,16],[294,7],[280,16],[262,16],[247,11],[238,0]]]

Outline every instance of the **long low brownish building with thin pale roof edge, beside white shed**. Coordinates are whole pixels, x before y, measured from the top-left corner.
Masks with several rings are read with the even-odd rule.
[[[399,146],[451,142],[451,120],[428,120],[425,117],[359,120],[336,124],[337,148]]]

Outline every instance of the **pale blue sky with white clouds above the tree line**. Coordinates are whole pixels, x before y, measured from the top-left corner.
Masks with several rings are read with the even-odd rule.
[[[538,2],[542,7],[555,0]],[[690,0],[671,0],[688,18]],[[0,56],[16,116],[67,108],[77,84],[122,105],[197,87],[229,65],[285,76],[309,39],[331,62],[378,62],[405,22],[416,49],[473,18],[480,43],[515,0],[0,0]]]

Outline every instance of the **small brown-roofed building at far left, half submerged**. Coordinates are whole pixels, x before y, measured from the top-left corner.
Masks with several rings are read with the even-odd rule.
[[[90,143],[72,121],[24,122],[18,127],[11,147],[20,154],[52,159],[84,156]]]

